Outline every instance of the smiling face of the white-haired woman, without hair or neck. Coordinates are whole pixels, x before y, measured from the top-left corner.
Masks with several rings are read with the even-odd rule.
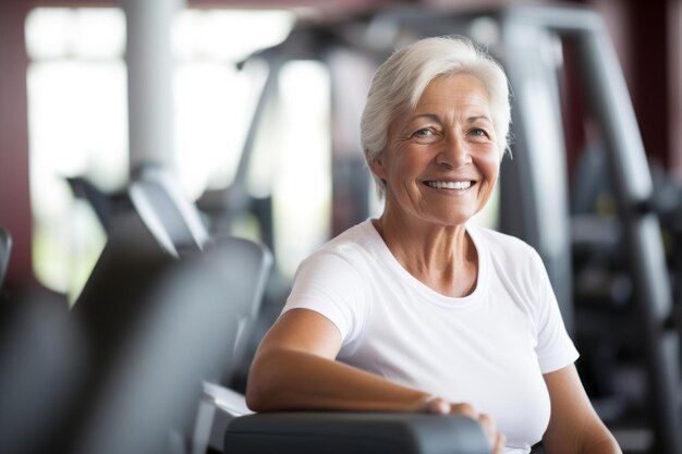
[[[414,111],[391,123],[372,171],[386,182],[386,211],[461,225],[488,201],[500,168],[488,94],[468,74],[438,77]]]

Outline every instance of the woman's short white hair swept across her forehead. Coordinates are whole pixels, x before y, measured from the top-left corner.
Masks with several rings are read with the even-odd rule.
[[[500,160],[509,149],[511,106],[502,66],[486,51],[461,36],[430,37],[391,54],[375,73],[361,120],[361,144],[370,165],[383,151],[388,130],[398,115],[414,110],[428,84],[439,76],[470,74],[484,85]],[[385,183],[374,175],[379,196]]]

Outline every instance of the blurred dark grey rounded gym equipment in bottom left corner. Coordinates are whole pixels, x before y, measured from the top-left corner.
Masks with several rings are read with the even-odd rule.
[[[77,326],[52,298],[0,303],[0,453],[59,451],[54,440],[83,380]]]

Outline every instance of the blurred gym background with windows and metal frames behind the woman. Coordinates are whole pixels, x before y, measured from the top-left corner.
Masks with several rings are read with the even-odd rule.
[[[2,303],[77,306],[159,172],[207,235],[271,253],[223,383],[242,391],[297,263],[379,212],[358,147],[376,65],[467,35],[514,93],[513,159],[476,222],[540,251],[625,451],[682,453],[681,29],[681,0],[4,0]]]

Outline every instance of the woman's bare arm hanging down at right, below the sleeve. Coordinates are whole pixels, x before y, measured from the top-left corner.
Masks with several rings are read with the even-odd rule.
[[[543,445],[549,454],[622,454],[571,365],[545,375],[551,401]]]

